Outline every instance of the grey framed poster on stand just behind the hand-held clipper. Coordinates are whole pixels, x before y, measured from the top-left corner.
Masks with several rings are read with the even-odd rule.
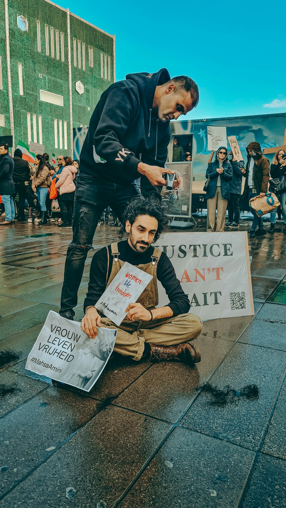
[[[166,163],[166,168],[175,171],[173,189],[164,185],[161,207],[171,217],[190,217],[192,210],[192,162]]]

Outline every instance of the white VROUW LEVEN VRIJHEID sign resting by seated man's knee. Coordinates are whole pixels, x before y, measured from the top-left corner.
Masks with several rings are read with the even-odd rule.
[[[89,339],[80,323],[50,310],[25,368],[89,392],[108,362],[117,335],[110,328],[97,330],[97,337]]]

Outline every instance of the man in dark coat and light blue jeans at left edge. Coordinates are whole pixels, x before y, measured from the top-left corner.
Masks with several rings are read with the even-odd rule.
[[[8,153],[8,145],[0,145],[0,195],[5,206],[5,220],[0,226],[8,226],[14,223],[15,206],[13,194],[15,185],[13,182],[14,161]]]

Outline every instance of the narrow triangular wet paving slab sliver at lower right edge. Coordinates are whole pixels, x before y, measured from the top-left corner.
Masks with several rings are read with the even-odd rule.
[[[262,452],[286,460],[286,380],[279,393]],[[285,471],[286,473],[286,471]]]

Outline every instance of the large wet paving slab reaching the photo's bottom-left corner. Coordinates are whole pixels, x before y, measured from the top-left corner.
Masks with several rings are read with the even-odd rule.
[[[3,506],[114,506],[170,428],[167,423],[108,407],[8,494]],[[75,495],[69,499],[66,493],[71,487]]]

